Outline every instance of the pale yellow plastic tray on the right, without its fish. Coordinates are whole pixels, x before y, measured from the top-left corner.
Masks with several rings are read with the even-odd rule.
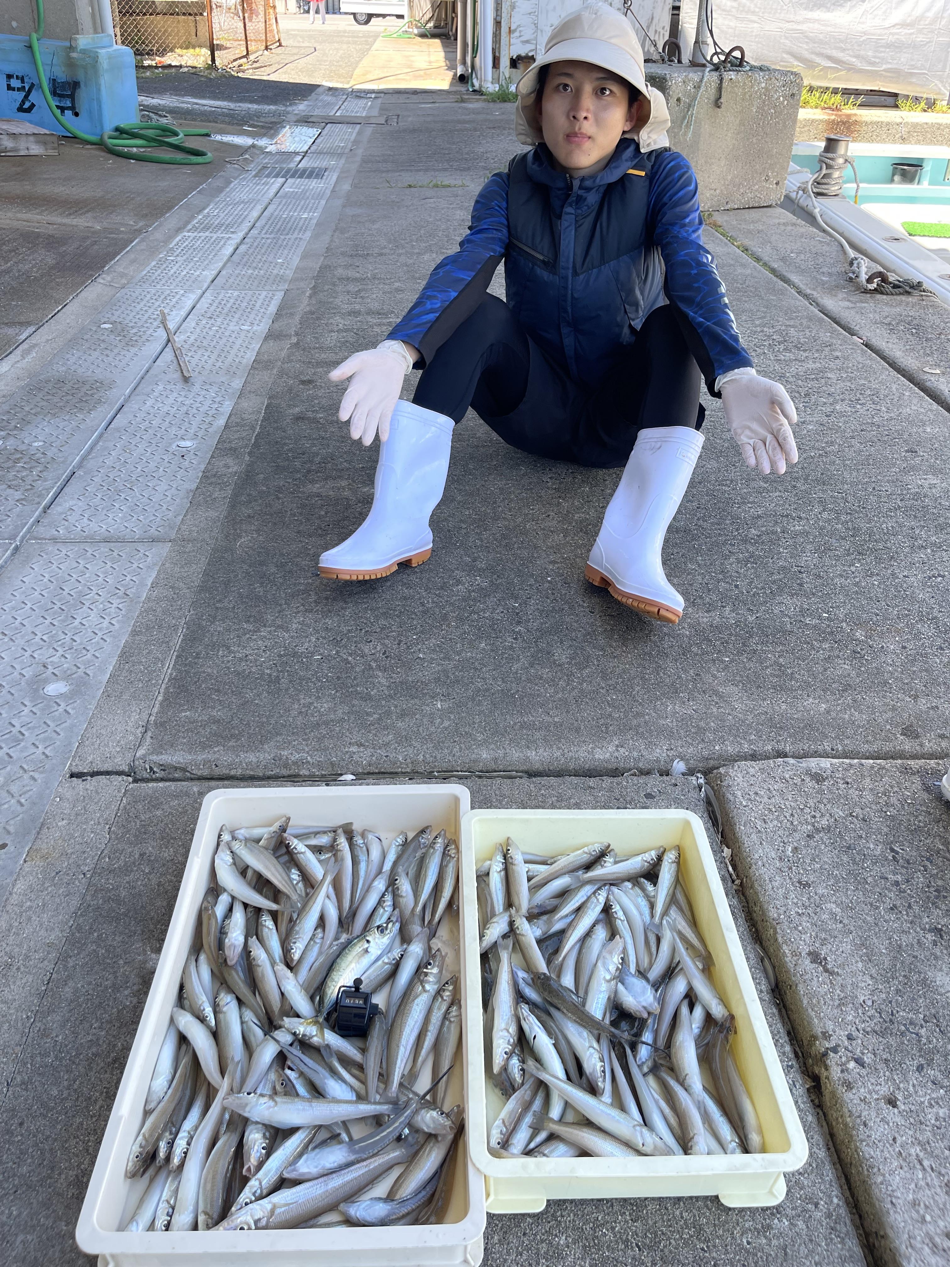
[[[504,1101],[485,1073],[475,869],[512,836],[522,849],[561,854],[609,840],[618,856],[680,848],[680,879],[714,959],[711,971],[736,1017],[732,1054],[759,1114],[766,1152],[737,1157],[509,1159],[493,1157],[488,1134]],[[466,976],[466,1125],[471,1159],[485,1176],[494,1214],[542,1210],[548,1197],[709,1196],[726,1205],[775,1205],[787,1171],[808,1144],[749,974],[736,926],[700,820],[687,810],[474,810],[462,818],[462,963]]]

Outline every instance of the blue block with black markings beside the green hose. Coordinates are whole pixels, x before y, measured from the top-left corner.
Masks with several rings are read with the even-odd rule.
[[[138,120],[136,58],[111,35],[41,39],[39,57],[49,95],[80,132],[98,137],[117,123]],[[0,119],[24,119],[68,136],[49,113],[23,35],[0,35]]]

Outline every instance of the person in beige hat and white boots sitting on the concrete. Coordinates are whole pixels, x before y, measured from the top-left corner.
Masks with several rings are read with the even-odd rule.
[[[584,4],[517,90],[516,134],[532,148],[489,179],[459,251],[379,347],[329,375],[350,379],[339,418],[364,445],[379,430],[380,456],[369,517],[320,556],[320,575],[367,580],[429,557],[452,432],[471,407],[526,452],[624,468],[586,576],[675,625],[683,598],[661,550],[703,446],[700,379],[766,475],[798,459],[795,409],[740,342],[693,169],[668,147],[666,103],[630,23]],[[486,294],[502,260],[505,302]]]

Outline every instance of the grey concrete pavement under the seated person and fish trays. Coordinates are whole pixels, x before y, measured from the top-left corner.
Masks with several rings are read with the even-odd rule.
[[[222,117],[232,106],[222,94]],[[583,580],[617,473],[527,457],[471,414],[432,560],[374,585],[318,580],[374,466],[326,371],[386,333],[516,150],[510,106],[389,92],[374,108],[398,124],[350,128],[336,201],[0,908],[8,1256],[82,1261],[72,1229],[209,788],[455,773],[475,806],[704,815],[697,782],[662,773],[683,758],[712,780],[721,874],[808,1162],[773,1209],[489,1218],[485,1261],[593,1267],[633,1248],[717,1267],[936,1267],[950,1225],[944,403],[852,337],[846,296],[821,310],[711,228],[740,331],[798,405],[802,461],[782,480],[750,474],[709,405],[665,554],[680,626]]]

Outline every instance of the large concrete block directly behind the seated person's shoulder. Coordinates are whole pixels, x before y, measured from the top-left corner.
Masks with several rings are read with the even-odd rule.
[[[670,144],[693,163],[704,212],[782,201],[801,75],[649,63],[646,77],[666,98]]]

